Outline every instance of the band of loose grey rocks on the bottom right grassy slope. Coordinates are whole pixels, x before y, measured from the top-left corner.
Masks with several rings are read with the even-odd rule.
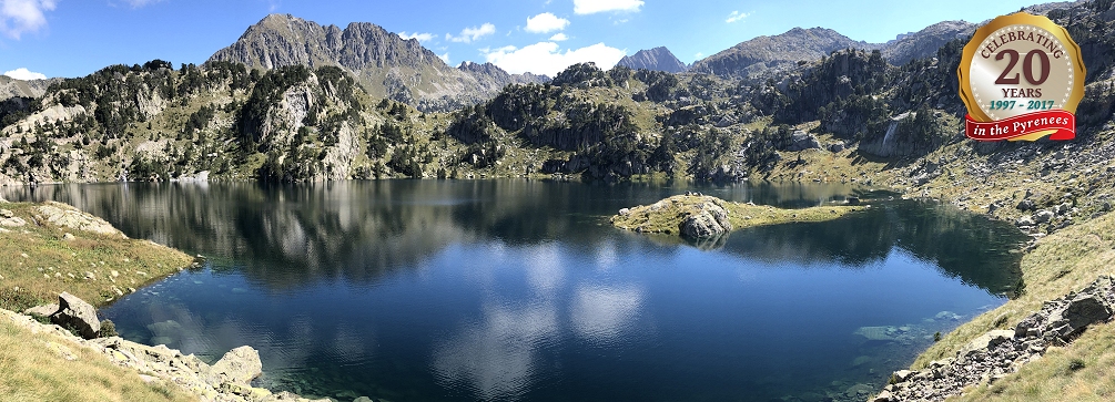
[[[1048,346],[1067,345],[1088,326],[1111,321],[1113,306],[1115,280],[1101,276],[1079,292],[1046,302],[1014,330],[976,337],[956,357],[933,361],[919,371],[894,372],[891,384],[871,401],[942,401],[968,385],[990,384],[1041,359]]]

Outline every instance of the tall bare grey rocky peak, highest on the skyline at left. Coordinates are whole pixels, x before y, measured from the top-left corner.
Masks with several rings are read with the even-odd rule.
[[[270,14],[249,27],[207,62],[214,61],[263,69],[336,66],[355,76],[369,95],[421,110],[453,110],[488,99],[508,84],[546,80],[510,75],[491,63],[453,68],[417,39],[403,39],[374,23],[353,22],[340,29],[290,14]]]

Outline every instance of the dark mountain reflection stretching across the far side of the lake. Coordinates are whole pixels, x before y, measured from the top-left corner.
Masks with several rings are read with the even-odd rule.
[[[607,227],[607,216],[686,188],[397,180],[302,186],[132,183],[40,186],[33,194],[25,187],[3,190],[9,199],[75,204],[105,217],[132,237],[235,261],[235,269],[246,273],[253,282],[292,290],[334,278],[374,282],[394,269],[421,266],[424,259],[449,245],[493,238],[507,245],[576,244],[598,253],[599,263],[607,266],[614,264],[614,257],[609,255],[643,238],[632,235],[612,239],[614,233]],[[787,207],[867,194],[838,184],[762,183],[701,190],[737,202]],[[927,203],[874,206],[859,214],[855,225],[841,219],[763,227],[702,241],[650,238],[669,247],[688,243],[700,249],[724,248],[806,265],[836,262],[862,266],[885,257],[896,245],[940,265],[949,275],[995,293],[1007,292],[1017,282],[1018,258],[995,256],[1017,248],[1025,237],[1005,225]],[[601,244],[605,247],[598,247]],[[539,263],[552,264],[544,258]],[[219,269],[224,267],[217,265]],[[551,275],[544,273],[546,267],[532,267],[543,275],[539,281],[553,280],[544,276]]]

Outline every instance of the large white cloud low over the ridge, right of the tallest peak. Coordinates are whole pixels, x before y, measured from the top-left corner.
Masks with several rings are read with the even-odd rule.
[[[481,49],[481,51],[484,52],[487,61],[500,66],[507,72],[530,71],[550,77],[556,76],[566,67],[579,62],[592,61],[597,63],[597,67],[610,69],[623,56],[627,56],[626,51],[609,47],[603,42],[580,49],[566,49],[564,52],[561,51],[556,42],[537,42],[521,49],[507,46],[495,50]]]

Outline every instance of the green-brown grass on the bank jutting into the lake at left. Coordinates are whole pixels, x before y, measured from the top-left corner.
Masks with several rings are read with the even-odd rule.
[[[69,292],[94,306],[187,266],[191,257],[148,241],[99,235],[37,219],[37,204],[2,204],[27,220],[0,233],[0,308],[57,303]],[[71,233],[75,239],[62,236]],[[26,256],[25,256],[26,255]],[[113,275],[116,272],[117,275]],[[91,273],[91,280],[86,276]],[[120,291],[117,293],[117,290]]]

